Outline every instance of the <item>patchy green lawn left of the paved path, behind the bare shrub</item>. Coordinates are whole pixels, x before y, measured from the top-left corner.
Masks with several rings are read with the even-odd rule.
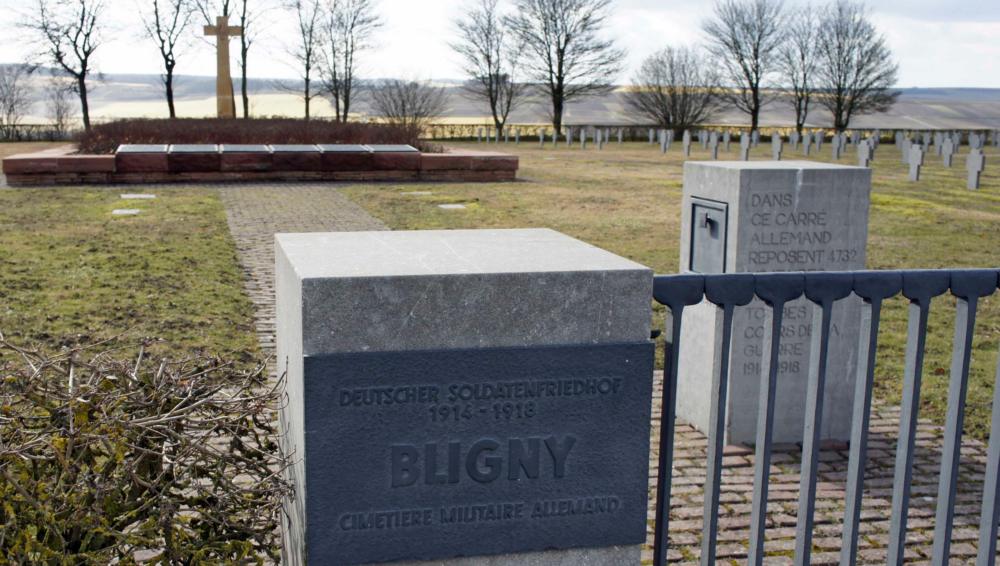
[[[216,192],[149,192],[157,198],[125,201],[115,187],[0,189],[0,331],[8,340],[58,348],[135,327],[132,338],[167,340],[154,354],[256,350],[252,303]]]

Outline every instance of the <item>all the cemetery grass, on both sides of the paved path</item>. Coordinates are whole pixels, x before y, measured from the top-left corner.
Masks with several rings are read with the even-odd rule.
[[[614,141],[598,151],[538,142],[457,147],[499,150],[520,157],[517,183],[366,184],[336,187],[393,230],[551,228],[604,248],[656,273],[678,269],[681,144],[662,155],[645,142]],[[577,144],[578,146],[578,144]],[[0,157],[45,149],[44,144],[0,144]],[[736,159],[738,143],[720,159]],[[721,148],[720,148],[721,150]],[[891,144],[873,162],[869,269],[1000,266],[1000,153],[986,149],[979,191],[965,189],[963,146],[954,167],[927,155],[921,181]],[[856,165],[848,147],[838,163]],[[692,145],[692,160],[709,153]],[[751,150],[771,160],[771,146]],[[831,161],[829,143],[803,158],[786,144],[784,159]],[[280,191],[280,187],[275,187]],[[122,201],[120,193],[155,193],[151,201]],[[431,195],[405,195],[431,192]],[[464,210],[438,205],[461,204]],[[111,216],[139,208],[137,216]],[[79,345],[135,326],[132,336],[168,340],[154,354],[192,348],[256,350],[252,303],[225,211],[214,189],[197,185],[57,189],[0,189],[0,331],[18,342],[48,347]],[[980,302],[966,430],[988,431],[1000,295]],[[654,310],[663,327],[663,309]],[[876,395],[898,401],[905,349],[906,302],[884,303]],[[942,422],[947,395],[954,300],[931,309],[921,416]],[[662,340],[662,338],[661,338]],[[256,351],[255,351],[256,352]],[[9,355],[9,354],[8,354]],[[8,360],[0,357],[0,363]]]

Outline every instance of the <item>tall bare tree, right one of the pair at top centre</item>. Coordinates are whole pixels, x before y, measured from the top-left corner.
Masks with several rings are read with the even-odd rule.
[[[611,0],[513,0],[503,18],[523,44],[525,71],[552,102],[552,125],[562,128],[566,104],[610,92],[625,51],[599,37]]]

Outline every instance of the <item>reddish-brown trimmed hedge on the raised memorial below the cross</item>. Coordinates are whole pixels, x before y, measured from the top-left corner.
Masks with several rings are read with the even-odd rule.
[[[81,154],[108,155],[121,144],[409,144],[425,153],[440,148],[419,131],[386,124],[294,118],[175,118],[116,120],[80,132]]]

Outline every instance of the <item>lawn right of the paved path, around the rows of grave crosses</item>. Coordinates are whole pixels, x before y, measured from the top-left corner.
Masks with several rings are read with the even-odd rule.
[[[476,149],[475,143],[455,143]],[[359,185],[342,189],[393,230],[551,228],[653,268],[676,273],[680,240],[683,155],[675,144],[666,156],[646,143],[612,143],[604,150],[539,149],[537,142],[498,148],[521,159],[519,182],[447,185]],[[733,144],[738,149],[738,144]],[[987,268],[1000,266],[1000,175],[987,165],[979,191],[965,189],[965,155],[950,170],[928,155],[919,183],[907,181],[907,166],[892,144],[883,144],[873,163],[868,268]],[[770,160],[770,144],[751,152]],[[987,164],[998,153],[987,148]],[[853,148],[838,163],[856,165]],[[722,152],[722,159],[737,154]],[[692,146],[692,160],[708,152]],[[829,144],[820,155],[802,158],[786,145],[784,158],[832,161]],[[432,191],[429,196],[402,195]],[[437,205],[461,203],[468,210]],[[1000,334],[1000,296],[980,302],[972,354],[966,430],[988,432]],[[663,312],[662,307],[658,312]],[[896,297],[883,309],[876,394],[897,402],[902,388],[906,301]],[[662,327],[662,318],[658,317]],[[954,299],[939,297],[932,307],[924,361],[922,416],[943,422],[954,330]]]

